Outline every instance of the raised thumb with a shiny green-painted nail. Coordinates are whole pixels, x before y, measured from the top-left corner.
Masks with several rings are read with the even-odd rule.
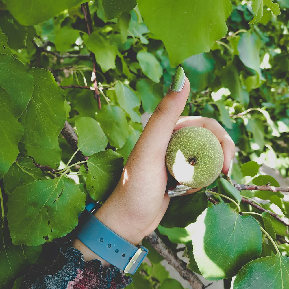
[[[179,66],[170,89],[156,107],[142,133],[140,141],[148,150],[159,153],[159,149],[166,149],[189,92],[190,82],[183,68]]]

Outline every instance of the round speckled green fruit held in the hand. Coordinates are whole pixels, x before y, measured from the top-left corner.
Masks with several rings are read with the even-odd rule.
[[[190,164],[192,160],[194,165]],[[166,151],[166,167],[180,184],[206,187],[221,173],[223,164],[221,144],[208,129],[183,127],[172,135]]]

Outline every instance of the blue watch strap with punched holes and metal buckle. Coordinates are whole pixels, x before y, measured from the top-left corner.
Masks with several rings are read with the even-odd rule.
[[[148,253],[146,248],[138,248],[114,233],[87,209],[79,216],[75,230],[77,238],[90,250],[125,273],[134,274]]]

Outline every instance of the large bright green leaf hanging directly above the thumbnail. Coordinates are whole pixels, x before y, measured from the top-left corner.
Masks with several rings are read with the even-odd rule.
[[[138,0],[138,7],[151,32],[164,42],[172,67],[208,52],[227,33],[225,21],[232,11],[228,0],[160,0],[149,5]]]

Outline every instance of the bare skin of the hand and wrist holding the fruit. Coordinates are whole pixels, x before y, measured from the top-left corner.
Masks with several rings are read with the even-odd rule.
[[[154,231],[168,208],[170,198],[166,190],[165,155],[174,131],[186,126],[205,127],[212,131],[223,149],[222,173],[225,175],[234,158],[234,142],[216,120],[201,116],[180,117],[189,92],[187,78],[180,92],[168,90],[132,150],[116,188],[95,213],[102,223],[132,244],[139,244]],[[189,190],[187,194],[199,189]],[[73,241],[73,246],[84,254],[85,260],[97,258],[105,266],[109,265],[78,239]]]

